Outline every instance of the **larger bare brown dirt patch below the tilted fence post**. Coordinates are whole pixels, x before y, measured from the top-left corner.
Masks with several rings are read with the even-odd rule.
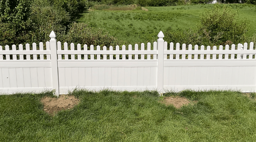
[[[58,98],[44,97],[41,99],[44,111],[50,115],[56,114],[60,110],[71,109],[79,103],[75,96],[59,95]]]

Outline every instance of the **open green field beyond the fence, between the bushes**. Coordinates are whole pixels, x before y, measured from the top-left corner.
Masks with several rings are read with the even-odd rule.
[[[221,4],[223,6],[224,4]],[[249,20],[249,31],[246,36],[256,33],[256,6],[247,4],[225,4],[238,10],[238,22],[244,18]],[[92,28],[101,28],[110,35],[123,41],[123,44],[140,44],[154,42],[162,30],[169,28],[191,28],[196,30],[199,23],[199,15],[205,9],[211,9],[213,4],[182,5],[170,7],[144,7],[148,11],[110,11],[90,10],[82,13],[77,22],[89,22]],[[249,42],[249,41],[248,41]]]

